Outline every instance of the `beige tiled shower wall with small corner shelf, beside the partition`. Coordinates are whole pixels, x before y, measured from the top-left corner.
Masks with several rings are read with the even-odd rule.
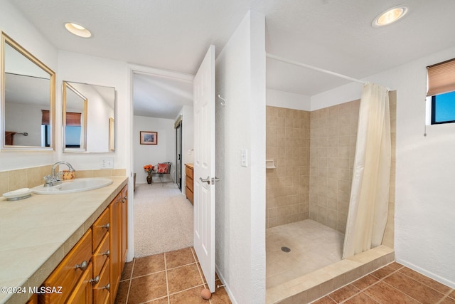
[[[267,106],[267,228],[308,219],[310,112]]]

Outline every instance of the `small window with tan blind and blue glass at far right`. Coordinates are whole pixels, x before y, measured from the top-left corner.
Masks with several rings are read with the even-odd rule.
[[[455,58],[427,67],[431,124],[455,122]]]

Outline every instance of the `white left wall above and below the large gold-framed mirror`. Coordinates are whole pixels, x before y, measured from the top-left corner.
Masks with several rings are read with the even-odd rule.
[[[57,49],[9,1],[0,1],[0,31],[56,72]],[[36,167],[52,164],[55,158],[55,152],[0,152],[0,168],[3,171]]]

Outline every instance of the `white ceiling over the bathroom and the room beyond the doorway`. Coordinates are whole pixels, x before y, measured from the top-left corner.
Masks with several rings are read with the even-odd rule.
[[[9,1],[59,49],[189,74],[210,44],[217,54],[223,49],[249,9],[266,16],[267,53],[353,78],[455,46],[453,0],[407,1],[405,18],[385,28],[373,28],[373,19],[401,1]],[[67,21],[89,28],[92,38],[69,34]],[[311,96],[348,82],[267,58],[267,88]],[[154,117],[172,116],[165,108],[192,94],[188,83],[153,75],[137,77],[134,90],[135,115]]]

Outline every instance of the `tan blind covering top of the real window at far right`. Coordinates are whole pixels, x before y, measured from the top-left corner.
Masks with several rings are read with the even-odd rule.
[[[455,58],[427,66],[427,96],[455,91]]]

